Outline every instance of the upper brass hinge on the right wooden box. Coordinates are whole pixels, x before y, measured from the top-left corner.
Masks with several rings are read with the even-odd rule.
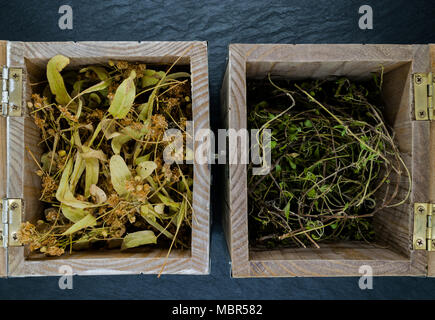
[[[414,110],[416,120],[433,120],[434,77],[432,72],[414,74]]]

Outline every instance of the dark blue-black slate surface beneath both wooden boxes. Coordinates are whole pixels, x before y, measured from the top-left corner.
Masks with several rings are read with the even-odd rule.
[[[58,9],[69,4],[74,29],[58,28]],[[374,29],[358,28],[358,8],[368,4]],[[0,39],[207,40],[211,123],[219,125],[219,89],[228,44],[435,43],[435,1],[0,1]],[[358,278],[232,279],[220,225],[219,185],[209,276],[74,277],[73,290],[58,278],[0,280],[3,299],[434,299],[435,279],[375,278],[360,290]]]

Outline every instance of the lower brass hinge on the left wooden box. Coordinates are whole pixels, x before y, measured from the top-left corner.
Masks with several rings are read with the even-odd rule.
[[[3,199],[1,209],[0,239],[3,247],[21,246],[17,233],[21,226],[23,201],[21,199]]]

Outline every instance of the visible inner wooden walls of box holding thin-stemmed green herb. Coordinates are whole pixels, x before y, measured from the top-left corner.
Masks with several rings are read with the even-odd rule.
[[[246,63],[248,79],[261,79],[270,73],[272,77],[290,80],[325,79],[330,76],[346,76],[365,80],[373,72],[383,74],[383,99],[386,104],[384,117],[394,129],[401,156],[411,170],[411,61],[307,61],[307,62],[250,62]],[[400,177],[406,183],[406,175]],[[406,187],[404,187],[406,189]],[[406,192],[406,190],[399,190]],[[382,193],[380,191],[379,193]],[[410,260],[412,208],[407,203],[385,208],[375,214],[373,223],[376,241],[320,243],[315,248],[279,248],[264,250],[249,248],[249,260]]]

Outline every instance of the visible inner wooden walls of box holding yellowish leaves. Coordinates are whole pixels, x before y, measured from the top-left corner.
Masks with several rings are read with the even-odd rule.
[[[175,56],[165,56],[165,57],[118,57],[118,56],[101,56],[101,57],[80,57],[80,58],[70,58],[70,64],[65,68],[68,69],[79,69],[84,66],[88,66],[90,64],[107,64],[109,60],[117,61],[131,61],[131,62],[140,62],[150,65],[156,66],[164,66],[169,67],[172,63],[174,63],[179,57]],[[29,101],[31,98],[32,87],[42,80],[45,80],[46,66],[49,59],[28,59],[25,58],[25,70],[24,70],[24,79],[25,79],[25,88],[24,88],[24,97],[26,101]],[[190,72],[190,58],[189,57],[181,57],[176,65],[176,68],[182,71]],[[26,114],[25,116],[25,125],[23,129],[24,141],[25,145],[31,150],[33,155],[40,159],[40,156],[43,152],[42,148],[38,146],[40,141],[40,133],[39,129],[33,123],[32,118]],[[43,207],[42,203],[39,201],[40,190],[41,190],[41,181],[40,177],[38,177],[35,172],[38,170],[38,167],[34,160],[32,159],[29,152],[25,151],[24,153],[24,213],[23,213],[23,221],[30,221],[35,223],[37,220],[43,217]],[[25,259],[26,260],[53,260],[53,259],[104,259],[104,258],[165,258],[168,250],[165,248],[150,248],[150,247],[141,247],[135,249],[129,249],[121,252],[118,249],[104,249],[104,250],[83,250],[72,252],[71,254],[64,254],[60,257],[46,257],[40,253],[30,253],[27,248],[25,248]],[[176,249],[173,248],[171,250],[170,258],[189,258],[191,257],[191,249]]]

